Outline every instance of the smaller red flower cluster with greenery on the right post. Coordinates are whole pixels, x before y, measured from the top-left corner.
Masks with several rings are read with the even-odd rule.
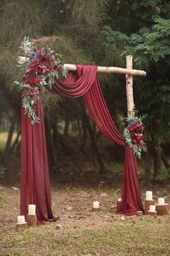
[[[128,117],[125,118],[128,121],[128,127],[124,129],[125,141],[133,149],[133,154],[138,158],[141,157],[141,152],[147,151],[146,143],[143,141],[144,127],[142,120],[146,118],[147,114],[143,116],[136,116],[138,111],[128,111]]]

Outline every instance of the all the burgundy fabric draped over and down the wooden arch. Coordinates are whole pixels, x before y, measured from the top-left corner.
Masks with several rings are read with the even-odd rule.
[[[125,146],[125,162],[122,177],[122,203],[118,213],[133,215],[143,211],[138,182],[138,166],[131,148],[115,127],[107,109],[97,78],[96,66],[76,65],[76,72],[69,72],[64,82],[55,80],[51,93],[78,98],[83,97],[89,113],[99,130],[112,142]],[[39,223],[55,221],[51,210],[48,157],[45,127],[40,99],[37,106],[40,124],[31,126],[22,107],[22,158],[21,158],[21,214],[27,215],[27,205],[37,206]]]

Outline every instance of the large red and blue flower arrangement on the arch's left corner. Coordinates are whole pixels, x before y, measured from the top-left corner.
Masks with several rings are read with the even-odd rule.
[[[37,116],[37,102],[40,99],[40,89],[45,86],[50,88],[54,84],[55,78],[66,77],[67,71],[61,64],[61,55],[53,54],[48,46],[37,49],[29,37],[25,36],[19,48],[24,51],[24,56],[18,56],[17,62],[21,70],[24,70],[22,81],[15,83],[19,90],[22,90],[22,104],[24,114],[31,119],[31,124],[40,123]]]

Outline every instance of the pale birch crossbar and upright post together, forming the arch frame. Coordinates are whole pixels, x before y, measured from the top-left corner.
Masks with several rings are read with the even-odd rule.
[[[68,70],[76,71],[76,65],[73,64],[64,64],[63,67]],[[145,71],[133,69],[133,56],[126,56],[126,69],[122,69],[121,67],[97,67],[97,72],[126,74],[127,109],[128,112],[133,111],[133,75],[146,76]]]

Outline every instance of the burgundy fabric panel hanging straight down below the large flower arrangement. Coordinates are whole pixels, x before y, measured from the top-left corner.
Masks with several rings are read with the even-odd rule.
[[[27,216],[29,204],[36,205],[37,219],[54,221],[51,210],[48,156],[42,101],[37,105],[40,124],[31,125],[22,106],[21,214]]]

